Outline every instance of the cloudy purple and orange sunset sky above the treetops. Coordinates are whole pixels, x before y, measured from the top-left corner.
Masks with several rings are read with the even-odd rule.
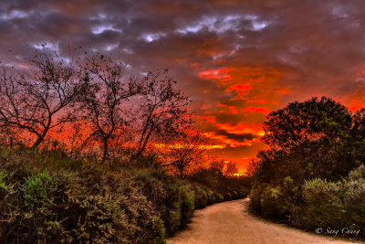
[[[0,58],[86,47],[136,70],[169,69],[214,154],[245,167],[262,124],[291,101],[365,95],[365,1],[0,0]]]

